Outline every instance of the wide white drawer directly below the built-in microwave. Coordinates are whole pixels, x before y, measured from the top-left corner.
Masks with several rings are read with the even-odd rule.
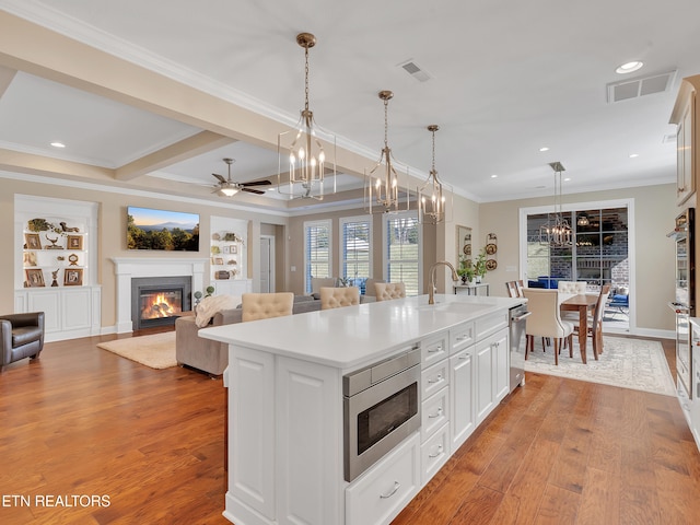
[[[416,432],[346,489],[346,524],[389,523],[420,489]]]

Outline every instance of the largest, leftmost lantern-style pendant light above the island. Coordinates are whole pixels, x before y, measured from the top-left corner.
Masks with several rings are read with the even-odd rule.
[[[296,35],[304,48],[304,109],[296,127],[278,135],[278,186],[280,194],[293,198],[323,200],[336,192],[336,137],[324,131],[308,108],[308,49],[316,45],[311,33]]]

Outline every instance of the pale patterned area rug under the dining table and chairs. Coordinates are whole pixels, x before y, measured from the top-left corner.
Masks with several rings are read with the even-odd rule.
[[[573,358],[569,357],[568,349],[562,350],[557,366],[553,349],[547,347],[547,351],[542,352],[541,339],[536,338],[535,351],[527,357],[525,371],[666,396],[676,395],[661,342],[604,336],[604,352],[596,361],[588,339],[588,363],[583,364],[576,339],[574,336]]]

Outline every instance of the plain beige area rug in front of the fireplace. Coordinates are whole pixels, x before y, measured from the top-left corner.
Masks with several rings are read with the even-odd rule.
[[[174,331],[116,339],[101,342],[97,347],[152,369],[177,366]]]

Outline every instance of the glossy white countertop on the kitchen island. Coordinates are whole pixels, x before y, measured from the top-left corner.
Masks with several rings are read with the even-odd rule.
[[[203,328],[199,336],[302,359],[342,371],[370,364],[465,320],[510,308],[523,299],[428,295]]]

